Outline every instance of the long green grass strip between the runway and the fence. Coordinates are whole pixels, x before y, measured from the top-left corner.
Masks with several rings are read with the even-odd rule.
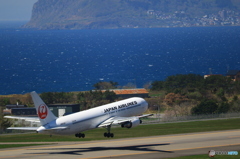
[[[112,128],[114,139],[145,137],[168,134],[182,134],[193,132],[206,132],[217,130],[240,129],[240,119],[223,119],[210,121],[192,121],[183,123],[166,123],[166,124],[152,124],[139,125],[135,128]],[[105,129],[99,128],[84,132],[86,138],[76,138],[74,135],[58,136],[43,134],[16,134],[16,135],[0,135],[0,142],[61,142],[61,141],[92,141],[92,140],[106,140],[103,137]],[[111,139],[107,139],[111,140]]]

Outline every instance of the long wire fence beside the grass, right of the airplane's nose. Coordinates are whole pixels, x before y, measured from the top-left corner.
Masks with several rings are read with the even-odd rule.
[[[185,116],[168,116],[165,114],[154,114],[150,118],[143,119],[144,124],[156,124],[167,122],[184,122],[184,121],[199,121],[199,120],[214,120],[214,119],[230,119],[240,118],[240,112],[224,113],[224,114],[207,114],[207,115],[185,115]]]

